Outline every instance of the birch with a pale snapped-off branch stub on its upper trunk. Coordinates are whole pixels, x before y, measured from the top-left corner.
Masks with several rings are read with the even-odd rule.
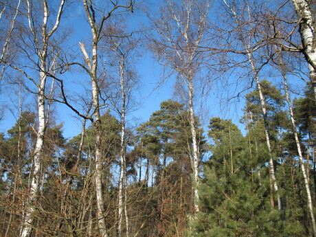
[[[97,199],[98,225],[102,237],[108,236],[104,220],[104,199],[102,192],[102,128],[100,110],[100,75],[98,75],[98,43],[102,38],[102,28],[106,20],[121,10],[133,11],[133,1],[125,1],[121,5],[118,1],[111,1],[113,4],[109,11],[100,10],[91,0],[83,0],[84,11],[87,15],[91,29],[91,57],[87,53],[83,43],[79,43],[87,67],[83,66],[91,78],[92,100],[93,100],[93,126],[95,128],[95,195]]]

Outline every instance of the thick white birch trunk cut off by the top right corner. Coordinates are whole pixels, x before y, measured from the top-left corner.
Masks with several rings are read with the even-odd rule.
[[[315,12],[311,1],[292,0],[300,21],[300,34],[303,42],[304,56],[308,62],[309,76],[316,99],[316,35]],[[315,100],[316,103],[316,100]]]

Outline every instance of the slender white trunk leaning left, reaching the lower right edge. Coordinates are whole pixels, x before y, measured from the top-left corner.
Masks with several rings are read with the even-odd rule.
[[[314,212],[313,212],[313,201],[312,201],[312,196],[311,196],[311,188],[309,186],[308,175],[307,175],[306,170],[305,170],[305,164],[304,164],[304,159],[303,159],[303,155],[302,155],[302,148],[300,145],[300,139],[299,139],[298,134],[297,134],[297,126],[296,126],[295,119],[294,119],[292,103],[291,103],[291,99],[289,96],[289,88],[287,85],[287,78],[286,78],[284,70],[282,70],[282,76],[284,79],[284,89],[285,89],[285,94],[286,94],[286,101],[289,105],[289,111],[290,111],[293,133],[294,133],[294,137],[295,137],[295,143],[296,143],[296,147],[297,147],[297,153],[298,153],[299,158],[300,158],[302,173],[303,173],[303,177],[304,177],[304,184],[305,184],[305,189],[306,189],[306,194],[307,194],[307,204],[308,204],[308,209],[309,209],[309,212],[311,215],[311,222],[312,222],[312,227],[313,227],[313,236],[316,236],[316,223],[315,223],[315,216],[314,216]]]

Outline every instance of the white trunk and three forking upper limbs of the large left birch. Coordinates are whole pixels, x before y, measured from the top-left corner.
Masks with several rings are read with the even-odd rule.
[[[46,120],[47,117],[45,116],[45,84],[47,80],[47,52],[48,52],[48,43],[49,38],[56,32],[59,23],[60,23],[60,17],[63,12],[63,6],[65,4],[65,0],[60,1],[60,6],[58,10],[58,14],[56,16],[56,22],[55,25],[52,27],[52,30],[47,32],[47,21],[49,18],[49,10],[47,6],[47,0],[43,0],[43,24],[41,28],[41,36],[38,36],[36,34],[36,31],[34,30],[34,22],[33,22],[33,16],[32,16],[32,2],[30,0],[27,0],[27,19],[29,22],[30,32],[32,33],[32,36],[34,37],[34,41],[39,45],[38,38],[41,37],[42,46],[41,49],[38,48],[37,56],[39,58],[40,62],[40,78],[39,83],[37,85],[38,87],[38,131],[37,131],[37,139],[36,139],[36,146],[34,149],[34,160],[33,160],[33,170],[32,170],[32,180],[30,183],[30,194],[29,199],[26,203],[25,208],[25,218],[22,223],[22,229],[21,229],[21,237],[27,237],[30,236],[30,233],[32,231],[32,223],[34,221],[34,211],[35,207],[34,204],[36,204],[36,196],[38,193],[38,188],[41,181],[41,166],[42,166],[42,152],[43,152],[43,146],[44,146],[44,136],[45,136],[45,130],[46,130]]]

